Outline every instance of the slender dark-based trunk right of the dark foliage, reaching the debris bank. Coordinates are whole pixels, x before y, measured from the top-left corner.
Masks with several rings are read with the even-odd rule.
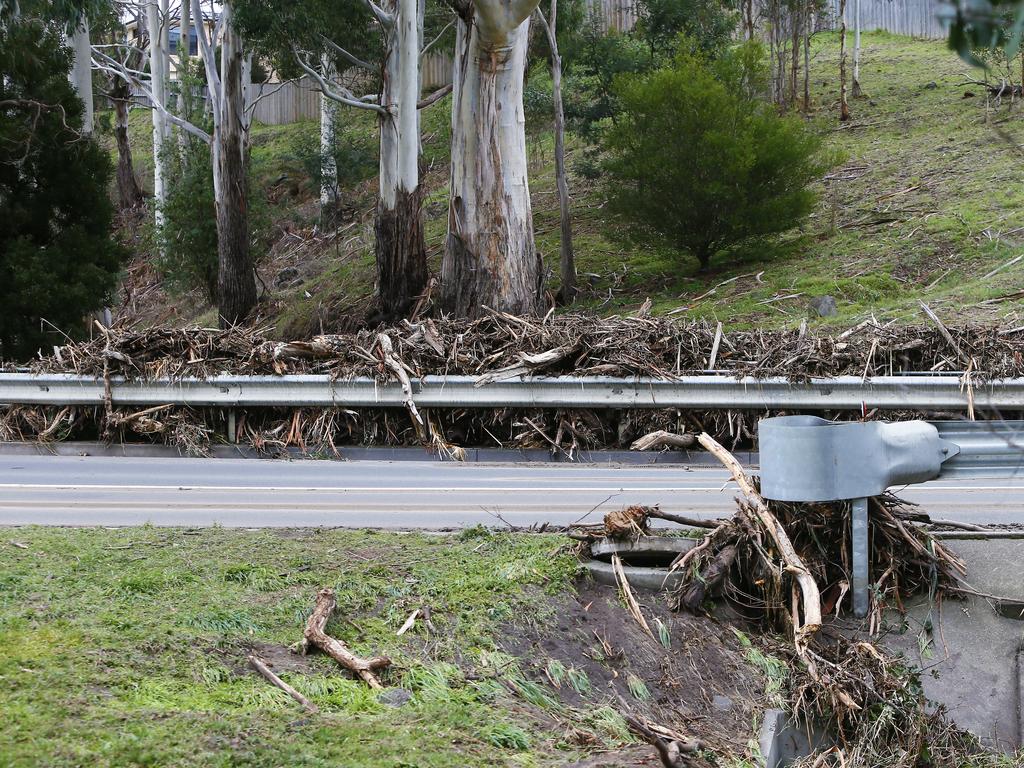
[[[225,4],[223,13],[229,12]],[[249,250],[249,155],[245,130],[242,41],[224,19],[220,44],[221,94],[213,135],[214,197],[217,203],[217,304],[220,325],[243,322],[256,306],[256,282]]]

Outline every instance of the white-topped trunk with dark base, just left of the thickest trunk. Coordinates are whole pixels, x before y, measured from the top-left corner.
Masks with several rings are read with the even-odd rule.
[[[381,82],[380,195],[377,200],[377,290],[387,315],[406,312],[427,286],[420,191],[420,13],[418,0],[388,6],[388,36]]]

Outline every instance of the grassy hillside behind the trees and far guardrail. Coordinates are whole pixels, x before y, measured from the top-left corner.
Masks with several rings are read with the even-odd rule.
[[[821,35],[812,51],[809,118],[840,153],[842,165],[822,181],[816,213],[770,252],[696,261],[666,244],[638,249],[611,236],[617,222],[600,190],[579,173],[570,178],[583,308],[611,314],[648,297],[655,314],[720,319],[730,327],[793,327],[808,301],[835,297],[839,313],[812,324],[846,326],[873,313],[881,321],[920,318],[927,301],[949,322],[1018,324],[1024,300],[1024,190],[1018,181],[1024,128],[1017,104],[986,104],[983,90],[963,85],[977,72],[941,41],[884,33],[863,38],[862,98],[853,120],[840,124],[838,37]],[[971,97],[967,95],[973,93]],[[152,162],[147,114],[133,114],[136,164]],[[373,123],[344,113],[345,131],[371,145]],[[429,190],[428,247],[434,267],[443,248],[447,182],[447,102],[424,114],[424,162]],[[348,215],[337,229],[317,227],[303,146],[315,141],[313,122],[257,126],[253,170],[265,205],[259,238],[266,286],[264,315],[282,336],[348,330],[362,322],[373,291],[372,172],[345,190]],[[558,252],[558,209],[552,138],[528,126],[530,186],[538,247],[549,269]],[[682,138],[682,137],[680,137]],[[581,144],[570,139],[569,163]],[[992,270],[1006,266],[998,273]],[[549,282],[556,285],[557,279]],[[144,257],[126,278],[125,313],[143,324],[212,323],[198,296],[168,297]]]

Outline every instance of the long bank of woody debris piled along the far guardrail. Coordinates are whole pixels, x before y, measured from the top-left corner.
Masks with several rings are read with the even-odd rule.
[[[965,350],[970,350],[968,355]],[[672,380],[716,371],[734,376],[881,376],[909,371],[967,372],[967,386],[1019,376],[1024,329],[947,329],[862,323],[835,335],[730,331],[709,323],[648,316],[572,313],[544,319],[489,312],[476,321],[406,321],[383,330],[274,341],[265,331],[234,328],[100,328],[86,342],[55,347],[36,373],[108,379],[205,379],[218,374],[322,374],[398,382],[404,411],[386,409],[247,409],[230,438],[257,450],[297,447],[330,454],[338,444],[428,444],[458,458],[457,445],[545,449],[574,456],[594,447],[686,447],[708,432],[733,447],[754,440],[763,412],[540,409],[418,409],[411,382],[429,375],[477,378],[481,386],[520,376],[615,376]],[[852,414],[851,414],[852,415]],[[833,414],[833,416],[839,416]],[[857,414],[861,416],[861,414]],[[0,412],[0,439],[72,436],[160,439],[203,454],[227,428],[218,409],[170,404],[143,412],[97,408],[10,407]]]

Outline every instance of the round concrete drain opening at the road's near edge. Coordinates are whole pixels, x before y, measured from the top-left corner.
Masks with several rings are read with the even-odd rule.
[[[696,546],[698,540],[686,537],[641,536],[630,539],[599,539],[590,546],[593,557],[587,570],[598,584],[615,586],[611,556],[623,560],[623,571],[630,586],[644,590],[671,590],[679,586],[681,571],[669,571],[669,565],[681,553]]]

